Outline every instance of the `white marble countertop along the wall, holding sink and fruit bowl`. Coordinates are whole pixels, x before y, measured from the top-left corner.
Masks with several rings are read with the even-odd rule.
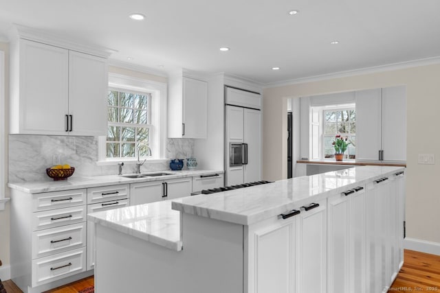
[[[39,194],[41,192],[49,191],[62,191],[69,189],[80,189],[88,187],[100,187],[106,185],[118,185],[127,183],[139,183],[146,181],[165,180],[173,178],[184,178],[192,176],[203,176],[211,174],[223,174],[224,171],[220,170],[181,170],[181,171],[155,171],[155,172],[143,172],[142,174],[151,173],[167,173],[173,174],[168,176],[151,176],[142,178],[126,178],[123,174],[120,175],[107,175],[107,176],[72,176],[67,180],[47,180],[36,182],[21,182],[21,183],[8,183],[8,187],[17,189],[20,191],[28,192],[29,194]],[[49,178],[50,179],[50,178]]]

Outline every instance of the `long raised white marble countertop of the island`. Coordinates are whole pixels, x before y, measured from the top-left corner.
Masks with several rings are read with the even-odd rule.
[[[172,207],[183,213],[250,225],[401,170],[404,167],[352,167],[208,196],[179,198],[173,200]]]

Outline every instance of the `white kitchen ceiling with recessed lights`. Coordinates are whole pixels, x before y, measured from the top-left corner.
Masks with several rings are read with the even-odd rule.
[[[271,84],[439,57],[439,12],[440,0],[0,0],[0,34],[19,23],[157,71]]]

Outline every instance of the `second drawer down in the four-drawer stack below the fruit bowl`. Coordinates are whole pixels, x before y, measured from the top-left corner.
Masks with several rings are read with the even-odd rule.
[[[85,222],[85,206],[32,213],[32,231]]]

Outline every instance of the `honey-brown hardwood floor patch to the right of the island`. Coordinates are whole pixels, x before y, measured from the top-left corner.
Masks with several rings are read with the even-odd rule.
[[[393,292],[440,292],[440,256],[405,250],[404,266],[388,290]]]

